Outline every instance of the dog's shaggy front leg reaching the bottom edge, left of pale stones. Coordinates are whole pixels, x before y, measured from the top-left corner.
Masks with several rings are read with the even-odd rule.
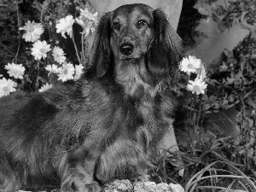
[[[100,192],[102,188],[94,180],[98,156],[99,153],[96,150],[86,149],[83,146],[69,154],[61,189],[65,191],[73,188],[77,192]]]

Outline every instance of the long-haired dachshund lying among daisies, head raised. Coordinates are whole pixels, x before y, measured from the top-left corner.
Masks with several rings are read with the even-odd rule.
[[[50,182],[98,192],[114,178],[146,177],[172,128],[182,53],[160,9],[137,3],[103,15],[81,79],[2,98],[0,191]]]

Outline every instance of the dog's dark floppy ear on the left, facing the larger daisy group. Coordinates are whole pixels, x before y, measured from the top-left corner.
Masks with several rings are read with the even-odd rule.
[[[86,79],[98,79],[107,73],[111,64],[112,49],[111,38],[111,13],[102,16],[96,28],[96,35],[90,50],[90,67],[84,73]]]

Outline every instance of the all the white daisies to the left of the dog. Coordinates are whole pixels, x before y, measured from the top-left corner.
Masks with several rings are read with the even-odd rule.
[[[94,32],[97,23],[97,12],[92,14],[89,9],[80,9],[80,15],[78,18],[73,19],[73,15],[67,15],[61,18],[56,23],[56,32],[61,33],[63,38],[67,38],[65,33],[70,38],[73,38],[73,23],[77,22],[83,27],[82,34],[88,36],[90,32]],[[45,69],[50,73],[55,73],[58,76],[58,80],[65,82],[67,80],[73,79],[77,80],[83,73],[84,66],[82,64],[73,66],[72,63],[67,62],[66,54],[63,49],[55,46],[51,49],[50,44],[46,41],[41,41],[40,37],[44,33],[44,27],[41,23],[36,23],[28,20],[25,26],[20,27],[19,30],[24,30],[22,38],[26,42],[32,42],[32,52],[34,60],[39,61],[45,59],[52,52],[52,56],[57,64],[48,65]],[[23,79],[25,73],[25,67],[22,64],[8,63],[5,67],[8,70],[9,77],[12,79],[0,79],[0,97],[8,96],[10,92],[14,92],[17,87],[17,83],[13,79]],[[1,76],[0,76],[1,78]],[[43,92],[52,87],[52,84],[44,84],[38,91]]]

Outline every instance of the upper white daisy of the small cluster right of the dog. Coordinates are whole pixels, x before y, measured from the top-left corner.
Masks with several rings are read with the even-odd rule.
[[[201,60],[197,59],[195,56],[189,55],[189,57],[184,57],[180,62],[179,69],[184,73],[196,73],[196,69],[201,67]]]

